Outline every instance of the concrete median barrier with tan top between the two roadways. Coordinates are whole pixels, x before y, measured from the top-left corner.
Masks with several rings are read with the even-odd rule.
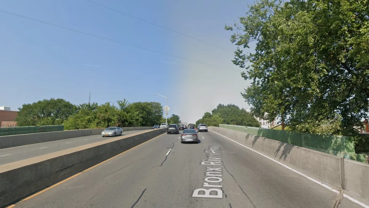
[[[161,128],[138,132],[0,165],[0,207],[62,181],[166,131],[166,128]]]

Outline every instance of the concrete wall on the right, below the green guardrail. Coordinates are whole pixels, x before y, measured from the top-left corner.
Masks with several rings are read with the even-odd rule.
[[[369,198],[368,164],[239,131],[219,127],[208,129],[337,188],[343,188],[351,195]]]

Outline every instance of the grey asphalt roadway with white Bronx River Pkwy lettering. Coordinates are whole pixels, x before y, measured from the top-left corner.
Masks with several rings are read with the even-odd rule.
[[[340,199],[214,132],[200,133],[200,144],[181,144],[178,137],[160,135],[15,207],[331,208]],[[201,188],[216,189],[199,197]],[[346,198],[340,203],[360,207]]]

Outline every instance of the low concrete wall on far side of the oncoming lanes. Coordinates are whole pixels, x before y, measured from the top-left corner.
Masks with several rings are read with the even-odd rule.
[[[134,131],[134,130],[149,130],[152,129],[152,127],[124,127],[122,129],[123,131]],[[53,131],[35,134],[18,134],[18,135],[1,136],[0,149],[17,147],[27,144],[35,144],[40,142],[98,135],[101,134],[101,131],[104,131],[104,129],[96,128],[96,129]]]

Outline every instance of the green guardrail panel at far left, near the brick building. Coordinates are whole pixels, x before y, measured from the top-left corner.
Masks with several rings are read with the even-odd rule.
[[[27,126],[27,127],[5,127],[0,128],[0,136],[33,134],[41,132],[64,131],[64,125],[52,126]]]

